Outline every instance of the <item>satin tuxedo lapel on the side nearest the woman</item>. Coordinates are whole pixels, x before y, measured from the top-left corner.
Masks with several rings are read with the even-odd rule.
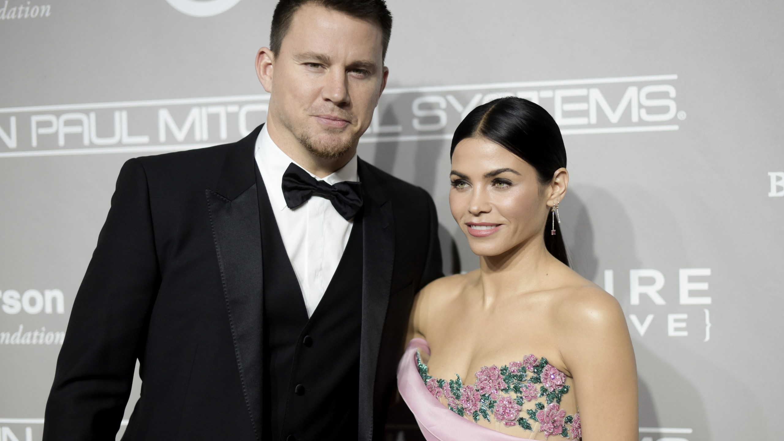
[[[387,316],[394,263],[392,202],[384,196],[365,161],[358,173],[365,199],[362,208],[362,327],[359,352],[359,436],[372,439],[376,363]]]

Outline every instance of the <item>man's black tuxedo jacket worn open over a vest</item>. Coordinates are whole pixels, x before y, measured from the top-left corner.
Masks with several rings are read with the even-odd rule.
[[[45,440],[114,439],[136,359],[141,398],[123,439],[260,439],[259,132],[125,162],[57,359]],[[358,173],[358,439],[370,441],[382,438],[412,301],[441,276],[441,252],[426,191],[361,159]]]

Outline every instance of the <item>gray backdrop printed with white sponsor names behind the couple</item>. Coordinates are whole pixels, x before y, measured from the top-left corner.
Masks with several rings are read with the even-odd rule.
[[[274,0],[47,2],[0,0],[0,441],[41,439],[122,163],[238,140],[267,109],[253,60]],[[390,9],[389,87],[359,155],[433,195],[445,270],[477,268],[448,210],[452,131],[494,97],[538,102],[567,145],[574,266],[626,312],[639,438],[780,437],[784,5]]]

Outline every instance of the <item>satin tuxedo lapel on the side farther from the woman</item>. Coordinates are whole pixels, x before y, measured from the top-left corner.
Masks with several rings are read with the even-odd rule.
[[[215,190],[205,190],[234,354],[256,439],[261,439],[263,378],[261,230],[254,160],[260,129],[227,147]]]

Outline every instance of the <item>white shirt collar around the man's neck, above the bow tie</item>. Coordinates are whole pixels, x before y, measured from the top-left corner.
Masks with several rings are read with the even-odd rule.
[[[261,128],[259,137],[256,138],[256,164],[259,166],[261,177],[264,180],[264,186],[267,188],[267,194],[270,196],[270,204],[273,210],[284,210],[288,208],[286,201],[283,198],[283,173],[289,168],[289,164],[294,162],[297,166],[305,170],[311,177],[317,180],[324,180],[327,184],[334,185],[344,180],[357,182],[359,175],[357,171],[357,155],[350,159],[350,161],[335,173],[327,177],[316,177],[310,173],[303,166],[300,166],[296,161],[289,158],[270,137],[267,131],[267,124]]]

